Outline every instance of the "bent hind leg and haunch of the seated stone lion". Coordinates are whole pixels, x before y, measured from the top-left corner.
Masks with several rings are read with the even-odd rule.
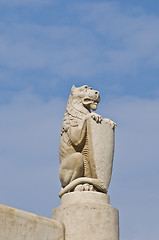
[[[84,176],[84,160],[80,152],[76,152],[63,159],[59,168],[62,187],[66,187],[76,178]]]

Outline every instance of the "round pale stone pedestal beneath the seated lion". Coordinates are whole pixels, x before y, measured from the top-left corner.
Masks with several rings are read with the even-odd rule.
[[[61,198],[53,219],[65,229],[65,240],[119,240],[118,210],[99,192],[72,192]]]

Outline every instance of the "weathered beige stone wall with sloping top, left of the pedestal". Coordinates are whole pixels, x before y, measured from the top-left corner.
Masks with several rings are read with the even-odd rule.
[[[0,240],[63,240],[61,223],[0,205]]]

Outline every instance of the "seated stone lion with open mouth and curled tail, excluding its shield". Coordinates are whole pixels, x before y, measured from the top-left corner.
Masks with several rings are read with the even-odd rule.
[[[97,176],[97,166],[93,162],[93,157],[89,154],[92,152],[92,147],[89,148],[91,141],[89,121],[94,121],[98,125],[103,121],[100,115],[91,112],[97,109],[99,102],[100,94],[97,90],[87,85],[72,87],[64,114],[59,146],[59,178],[62,185],[60,197],[70,191],[107,192],[104,182]],[[109,124],[111,131],[114,131],[116,124],[109,119],[104,121]]]

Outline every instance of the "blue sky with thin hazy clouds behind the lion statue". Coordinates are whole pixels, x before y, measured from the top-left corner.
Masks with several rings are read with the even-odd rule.
[[[0,0],[0,202],[51,217],[73,84],[117,123],[122,240],[158,238],[159,2]]]

